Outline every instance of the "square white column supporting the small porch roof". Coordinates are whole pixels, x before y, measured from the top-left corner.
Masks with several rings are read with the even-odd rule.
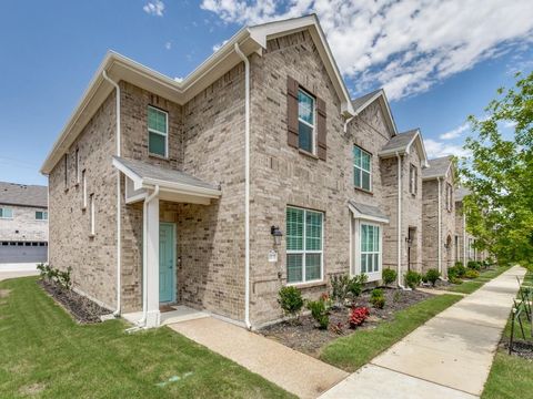
[[[159,195],[149,203],[147,215],[147,328],[158,327],[159,313]]]

